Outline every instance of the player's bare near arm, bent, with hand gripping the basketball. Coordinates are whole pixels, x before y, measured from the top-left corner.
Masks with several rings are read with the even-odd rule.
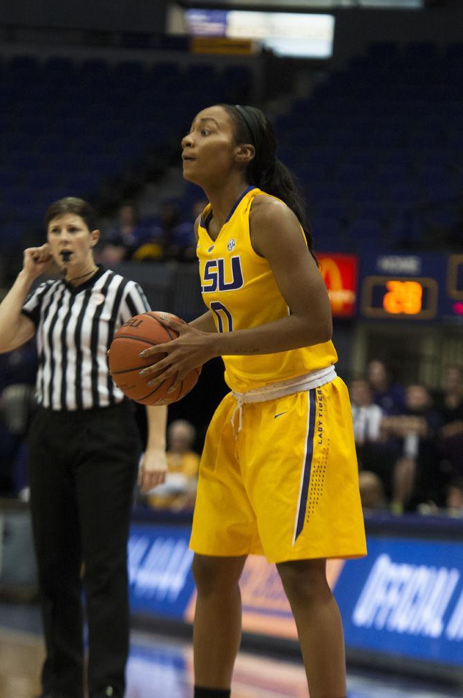
[[[199,332],[167,318],[166,325],[176,329],[180,336],[143,352],[144,356],[160,351],[168,354],[152,369],[142,371],[149,375],[165,369],[149,385],[156,385],[174,373],[178,374],[176,383],[180,383],[188,371],[215,356],[271,354],[331,339],[328,292],[293,211],[278,200],[256,197],[250,226],[252,246],[268,260],[289,308],[288,315],[266,325],[216,333]],[[262,298],[261,302],[265,303],[266,299]]]

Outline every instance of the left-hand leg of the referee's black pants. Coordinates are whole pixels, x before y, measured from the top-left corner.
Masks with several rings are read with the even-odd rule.
[[[40,410],[29,430],[29,485],[46,658],[43,692],[83,695],[80,543],[70,461],[75,434]]]

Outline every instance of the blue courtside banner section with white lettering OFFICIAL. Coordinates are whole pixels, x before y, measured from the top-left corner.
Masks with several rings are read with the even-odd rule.
[[[336,586],[346,644],[463,668],[463,545],[368,538]]]

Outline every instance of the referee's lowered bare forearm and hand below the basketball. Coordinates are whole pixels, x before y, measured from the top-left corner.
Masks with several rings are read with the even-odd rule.
[[[146,406],[146,424],[148,427],[146,449],[140,461],[138,474],[138,484],[142,492],[165,482],[167,407]]]

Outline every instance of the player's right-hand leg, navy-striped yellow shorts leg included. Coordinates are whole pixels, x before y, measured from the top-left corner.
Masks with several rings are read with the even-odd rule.
[[[343,698],[342,624],[325,559],[365,554],[347,390],[333,383],[250,405],[247,490],[293,609],[311,698]],[[349,428],[350,425],[350,428]]]

